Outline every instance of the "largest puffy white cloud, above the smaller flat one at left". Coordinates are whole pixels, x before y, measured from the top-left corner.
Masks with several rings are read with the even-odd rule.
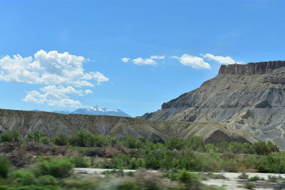
[[[93,86],[108,81],[102,73],[83,69],[87,59],[67,52],[38,51],[33,57],[4,56],[0,58],[0,80],[28,84]]]

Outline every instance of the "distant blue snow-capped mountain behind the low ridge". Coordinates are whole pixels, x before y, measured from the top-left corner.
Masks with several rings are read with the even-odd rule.
[[[115,116],[123,116],[130,117],[130,115],[126,114],[122,110],[109,110],[106,107],[100,107],[98,105],[89,107],[89,108],[79,108],[73,112],[69,112],[68,110],[54,110],[52,112],[61,113],[61,114],[83,114],[83,115],[115,115]]]

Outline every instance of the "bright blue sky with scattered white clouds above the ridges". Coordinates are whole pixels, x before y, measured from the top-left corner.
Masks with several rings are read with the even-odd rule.
[[[285,59],[285,1],[4,0],[0,8],[5,109],[100,105],[143,115],[221,64]]]

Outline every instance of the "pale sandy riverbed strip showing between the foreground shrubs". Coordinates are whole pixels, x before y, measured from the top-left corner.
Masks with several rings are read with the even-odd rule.
[[[75,168],[74,173],[83,175],[83,176],[105,176],[102,174],[104,171],[112,171],[113,169],[95,169],[95,168]],[[124,173],[129,171],[135,172],[134,169],[123,169]],[[150,172],[159,172],[150,170]],[[207,185],[216,185],[222,186],[224,189],[247,189],[246,183],[247,179],[239,179],[239,176],[242,173],[232,173],[232,172],[219,172],[213,173],[212,176],[221,176],[217,177],[219,179],[211,179],[208,177],[207,180],[203,180],[202,183]],[[280,183],[284,181],[285,174],[265,174],[265,173],[246,173],[248,179],[254,176],[258,176],[260,180],[252,181],[250,183],[254,184],[253,189],[285,189],[285,184],[282,186]],[[209,176],[207,173],[204,173],[205,176]],[[224,176],[224,179],[222,176]]]

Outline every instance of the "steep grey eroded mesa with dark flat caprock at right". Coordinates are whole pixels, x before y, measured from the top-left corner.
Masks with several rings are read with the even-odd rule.
[[[217,122],[285,149],[285,61],[222,65],[200,88],[162,104],[146,120]]]

